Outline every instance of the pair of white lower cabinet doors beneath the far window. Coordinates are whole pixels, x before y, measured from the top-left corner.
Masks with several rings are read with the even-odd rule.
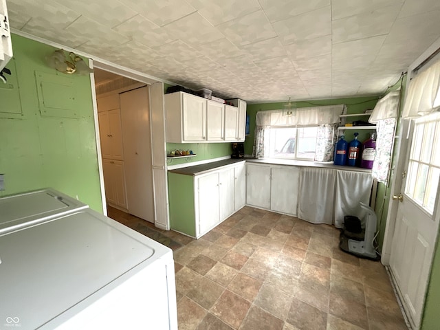
[[[247,165],[246,203],[296,216],[300,168],[278,165]]]

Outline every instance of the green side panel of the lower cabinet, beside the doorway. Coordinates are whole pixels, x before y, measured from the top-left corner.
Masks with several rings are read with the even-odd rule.
[[[170,228],[195,237],[194,177],[168,172]]]

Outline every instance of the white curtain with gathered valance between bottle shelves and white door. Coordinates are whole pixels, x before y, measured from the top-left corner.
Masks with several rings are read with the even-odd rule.
[[[371,175],[384,184],[388,181],[399,104],[400,91],[392,91],[377,102],[369,118],[369,122],[377,126],[376,154]]]

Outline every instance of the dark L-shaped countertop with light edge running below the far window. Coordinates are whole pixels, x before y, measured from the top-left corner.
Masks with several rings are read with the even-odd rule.
[[[276,158],[230,158],[223,159],[218,162],[210,162],[206,164],[200,164],[195,166],[187,166],[183,168],[176,168],[174,170],[168,170],[170,173],[184,174],[184,175],[201,175],[208,173],[211,170],[219,168],[221,166],[234,165],[240,162],[250,162],[256,164],[270,164],[270,165],[285,165],[285,166],[305,166],[305,167],[318,167],[318,168],[333,168],[335,170],[351,170],[354,172],[370,173],[371,170],[366,168],[354,167],[354,166],[338,166],[333,163],[321,163],[321,162],[307,162],[305,160],[290,160],[290,159],[276,159]]]

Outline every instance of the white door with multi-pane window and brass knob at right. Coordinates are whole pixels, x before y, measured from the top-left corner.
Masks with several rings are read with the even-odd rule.
[[[397,206],[390,267],[412,327],[419,329],[439,225],[435,212],[439,199],[440,114],[417,119],[413,132]]]

